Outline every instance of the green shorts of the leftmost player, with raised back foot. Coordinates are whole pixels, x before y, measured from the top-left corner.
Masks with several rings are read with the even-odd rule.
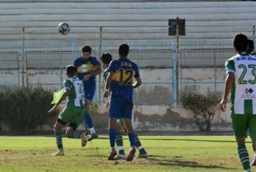
[[[71,126],[75,130],[83,122],[84,113],[85,110],[83,109],[83,107],[65,107],[58,117],[58,122],[63,125],[69,123],[69,126]]]

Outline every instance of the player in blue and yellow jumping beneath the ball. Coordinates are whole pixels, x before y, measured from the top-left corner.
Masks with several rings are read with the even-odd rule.
[[[89,45],[84,45],[82,47],[82,57],[79,57],[74,62],[74,66],[77,68],[77,77],[83,81],[85,88],[85,121],[91,132],[88,141],[98,138],[92,124],[92,118],[88,112],[96,90],[95,75],[101,73],[100,62],[98,62],[96,57],[91,56],[91,52],[92,48]]]

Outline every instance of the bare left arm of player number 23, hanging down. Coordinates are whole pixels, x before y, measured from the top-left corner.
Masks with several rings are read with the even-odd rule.
[[[220,110],[222,110],[223,112],[226,109],[226,103],[228,102],[228,94],[232,88],[232,83],[234,78],[235,78],[235,75],[233,72],[228,72],[228,74],[226,75],[224,96],[222,98],[222,101],[220,101]]]

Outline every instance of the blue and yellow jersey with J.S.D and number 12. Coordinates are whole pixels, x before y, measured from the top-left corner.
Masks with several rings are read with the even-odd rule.
[[[114,72],[110,84],[110,100],[122,98],[132,101],[132,81],[139,77],[138,66],[129,59],[120,58],[110,62],[109,71]]]

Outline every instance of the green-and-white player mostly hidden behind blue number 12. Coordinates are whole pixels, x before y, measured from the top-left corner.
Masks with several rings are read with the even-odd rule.
[[[101,54],[101,64],[103,65],[103,68],[105,69],[104,72],[103,72],[103,77],[104,77],[105,81],[107,79],[107,75],[109,74],[109,63],[111,61],[112,61],[111,54],[109,54],[109,53]],[[104,106],[106,108],[109,108],[109,101],[107,101],[107,103],[104,104]],[[118,118],[116,126],[115,126],[115,129],[116,129],[115,142],[117,143],[117,147],[118,147],[119,152],[118,152],[117,156],[114,157],[114,160],[126,159],[126,154],[124,153],[124,147],[123,147],[123,135],[122,135],[121,130],[120,130],[121,127],[123,127],[123,130],[127,135],[127,129],[124,126],[124,119],[123,118]],[[136,133],[134,135],[134,139],[135,139],[135,146],[139,150],[139,154],[135,158],[147,158],[147,156],[148,156],[147,152],[143,148],[141,142],[139,141],[138,135],[136,135]]]

